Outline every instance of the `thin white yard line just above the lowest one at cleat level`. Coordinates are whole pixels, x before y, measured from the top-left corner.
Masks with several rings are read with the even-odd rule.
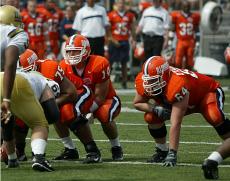
[[[26,138],[30,140],[30,138]],[[79,139],[72,139],[73,141],[80,141]],[[48,138],[48,141],[61,141],[59,138]],[[96,142],[109,142],[109,140],[95,140]],[[153,143],[151,140],[120,140],[121,143]],[[169,143],[167,141],[167,143]],[[198,144],[198,145],[220,145],[221,142],[197,142],[197,141],[180,141],[180,144]]]

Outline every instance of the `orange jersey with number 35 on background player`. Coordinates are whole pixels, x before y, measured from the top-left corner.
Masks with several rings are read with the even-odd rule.
[[[121,16],[117,11],[108,13],[111,24],[112,36],[118,41],[128,40],[131,30],[131,24],[135,20],[135,16],[131,12],[126,12]]]

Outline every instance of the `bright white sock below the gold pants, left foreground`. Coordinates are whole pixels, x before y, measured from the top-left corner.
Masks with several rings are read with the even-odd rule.
[[[46,141],[40,138],[36,138],[31,141],[31,148],[34,155],[44,154],[46,149]]]

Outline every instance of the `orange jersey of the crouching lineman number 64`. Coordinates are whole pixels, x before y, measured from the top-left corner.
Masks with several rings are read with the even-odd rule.
[[[143,87],[142,75],[142,73],[139,73],[135,81],[136,90],[139,95],[155,99],[160,104],[173,104],[182,100],[189,92],[188,108],[190,109],[198,108],[206,94],[215,92],[220,87],[218,82],[206,75],[187,69],[170,67],[170,77],[164,87],[163,96],[161,98],[160,96],[149,97]]]

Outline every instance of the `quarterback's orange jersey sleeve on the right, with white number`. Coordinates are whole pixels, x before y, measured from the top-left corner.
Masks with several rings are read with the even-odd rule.
[[[96,84],[105,82],[110,78],[110,64],[106,58],[100,57],[99,60],[97,60],[97,64],[93,70],[93,76]]]

